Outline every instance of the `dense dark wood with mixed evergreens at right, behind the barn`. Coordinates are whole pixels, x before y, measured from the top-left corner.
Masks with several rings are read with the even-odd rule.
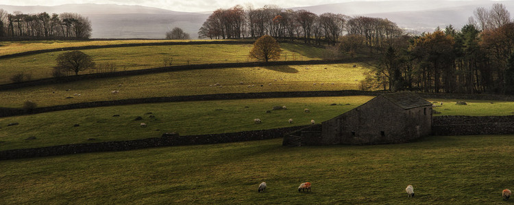
[[[384,90],[514,94],[514,23],[500,3],[380,50],[363,86]]]

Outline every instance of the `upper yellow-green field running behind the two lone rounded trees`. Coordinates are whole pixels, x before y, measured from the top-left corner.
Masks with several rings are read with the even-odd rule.
[[[322,49],[299,44],[283,44],[284,52],[280,60],[321,59]],[[83,52],[91,55],[97,64],[114,63],[117,70],[138,70],[164,66],[163,59],[172,58],[173,65],[237,63],[254,61],[248,58],[251,44],[240,45],[173,45],[173,46],[136,46],[126,48],[90,49]],[[291,50],[289,50],[291,49]],[[312,51],[307,51],[312,50]],[[11,83],[10,77],[19,72],[31,74],[32,79],[51,77],[56,66],[56,57],[62,52],[41,53],[0,59],[0,84]],[[80,73],[98,72],[86,70]],[[74,74],[74,73],[73,73]]]

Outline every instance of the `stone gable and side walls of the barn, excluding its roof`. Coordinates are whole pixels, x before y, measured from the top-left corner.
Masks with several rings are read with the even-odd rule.
[[[404,143],[430,134],[431,107],[403,109],[377,97],[323,122],[325,144]]]

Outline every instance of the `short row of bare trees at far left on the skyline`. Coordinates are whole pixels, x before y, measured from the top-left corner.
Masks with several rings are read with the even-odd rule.
[[[91,21],[80,14],[12,14],[0,9],[0,38],[90,38]]]

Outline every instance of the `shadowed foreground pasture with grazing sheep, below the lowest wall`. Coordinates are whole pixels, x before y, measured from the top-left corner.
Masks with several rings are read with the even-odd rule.
[[[0,161],[0,204],[504,204],[512,137],[297,148],[271,139]],[[312,192],[298,193],[306,181]]]

